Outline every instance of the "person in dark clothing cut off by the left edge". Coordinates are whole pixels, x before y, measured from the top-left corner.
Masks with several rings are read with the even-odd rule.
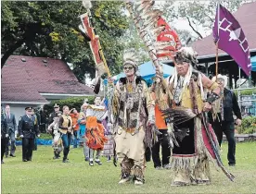
[[[1,111],[2,112],[2,111]],[[6,152],[6,145],[9,137],[9,128],[6,123],[6,116],[4,113],[1,113],[1,164],[4,164],[4,154]]]

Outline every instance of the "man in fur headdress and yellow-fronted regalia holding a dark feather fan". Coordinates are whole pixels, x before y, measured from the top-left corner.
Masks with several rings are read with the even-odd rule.
[[[211,103],[219,98],[220,87],[195,69],[197,54],[192,48],[178,50],[174,63],[173,76],[167,79],[173,94],[169,102],[172,108],[164,111],[167,122],[172,123],[168,130],[174,136],[171,164],[175,176],[172,186],[209,184],[209,161],[215,163],[215,159],[218,160],[219,148],[204,112],[210,111]],[[207,99],[205,89],[210,91]]]

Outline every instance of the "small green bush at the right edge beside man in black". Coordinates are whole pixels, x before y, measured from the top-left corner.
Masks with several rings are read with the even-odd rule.
[[[242,120],[242,126],[237,127],[238,133],[251,134],[256,132],[256,116],[247,116]]]

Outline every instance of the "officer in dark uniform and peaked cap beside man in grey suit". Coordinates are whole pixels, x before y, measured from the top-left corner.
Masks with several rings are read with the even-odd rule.
[[[35,137],[40,137],[37,121],[32,116],[32,107],[26,107],[26,115],[19,118],[19,136],[22,138],[22,161],[32,161]]]

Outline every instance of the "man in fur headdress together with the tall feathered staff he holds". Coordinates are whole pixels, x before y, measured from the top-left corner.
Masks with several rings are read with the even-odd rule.
[[[220,96],[220,87],[197,70],[197,53],[190,47],[179,46],[178,39],[160,39],[167,26],[159,25],[160,10],[153,0],[126,1],[140,37],[156,67],[154,91],[168,123],[170,146],[173,149],[171,164],[175,171],[172,186],[210,184],[209,161],[220,167],[233,181],[220,158],[216,136],[207,122],[206,112]],[[174,43],[174,44],[173,44]],[[172,59],[173,76],[162,78],[160,60]],[[205,98],[205,91],[211,91]],[[167,103],[161,103],[161,93],[168,93]]]

